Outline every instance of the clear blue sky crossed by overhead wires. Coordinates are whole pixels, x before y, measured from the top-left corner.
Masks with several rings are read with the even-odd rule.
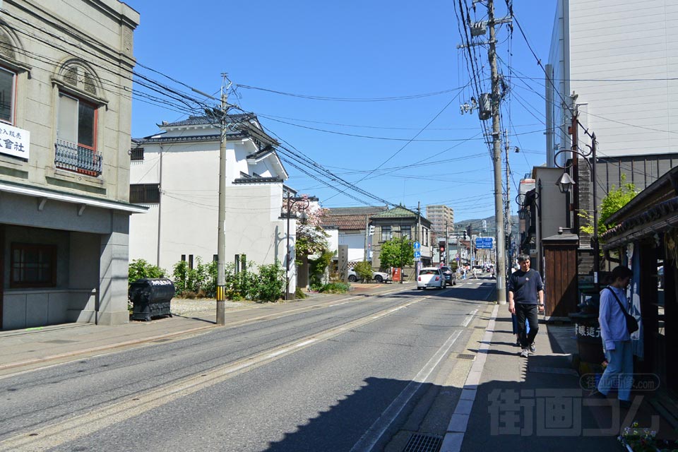
[[[230,102],[256,113],[287,148],[376,198],[408,208],[417,202],[422,208],[446,204],[460,221],[494,214],[494,182],[477,112],[460,114],[473,91],[465,51],[456,48],[458,1],[126,3],[141,13],[136,59],[157,71],[138,66],[139,73],[183,92],[187,88],[177,82],[218,97],[220,73],[226,72],[237,91]],[[461,3],[470,6],[472,0]],[[495,3],[496,17],[505,16],[506,1]],[[475,8],[472,18],[486,18],[484,4]],[[545,64],[555,1],[517,1],[513,13]],[[501,25],[497,39],[500,69],[510,86],[502,128],[509,129],[514,198],[523,174],[545,162],[543,73],[517,27],[511,37]],[[488,77],[487,47],[475,52],[481,78]],[[481,83],[489,90],[489,81]],[[383,100],[387,97],[396,100]],[[172,102],[162,107],[135,96],[132,136],[148,136],[158,130],[155,124],[185,117]],[[516,146],[521,152],[513,152]],[[347,191],[352,197],[338,194],[286,167],[287,184],[318,196],[323,206],[381,205],[353,191]]]

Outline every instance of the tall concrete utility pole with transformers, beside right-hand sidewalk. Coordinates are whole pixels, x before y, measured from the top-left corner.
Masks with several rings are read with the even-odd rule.
[[[501,190],[501,136],[499,132],[499,72],[496,68],[496,39],[494,37],[494,0],[487,0],[489,28],[489,66],[492,73],[492,163],[494,167],[494,222],[496,224],[496,302],[506,304],[506,260],[504,252],[504,203]]]

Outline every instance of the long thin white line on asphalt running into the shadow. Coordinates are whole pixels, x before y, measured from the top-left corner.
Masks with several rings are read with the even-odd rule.
[[[405,389],[403,389],[403,391],[398,394],[398,397],[393,399],[391,405],[388,405],[388,408],[383,410],[379,418],[374,421],[374,424],[372,424],[369,429],[367,429],[367,432],[362,435],[358,442],[351,448],[350,452],[367,452],[374,448],[381,436],[384,434],[384,432],[386,432],[386,429],[388,429],[388,427],[393,424],[393,421],[398,418],[400,412],[403,411],[403,408],[405,408],[405,405],[410,402],[412,396],[414,396],[419,390],[420,386],[422,386],[422,384],[427,381],[441,360],[447,356],[448,352],[452,348],[452,345],[454,345],[455,341],[460,335],[461,331],[455,331],[452,333],[448,340],[446,340],[446,342],[438,349],[438,351],[436,351],[431,359],[429,359],[429,362],[424,365],[422,370],[419,371],[415,378],[412,379],[410,383],[408,383],[408,386],[405,386]]]

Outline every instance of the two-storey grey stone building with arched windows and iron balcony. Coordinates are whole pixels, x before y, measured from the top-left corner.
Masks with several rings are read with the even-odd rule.
[[[0,326],[129,321],[133,33],[118,0],[4,1]]]

